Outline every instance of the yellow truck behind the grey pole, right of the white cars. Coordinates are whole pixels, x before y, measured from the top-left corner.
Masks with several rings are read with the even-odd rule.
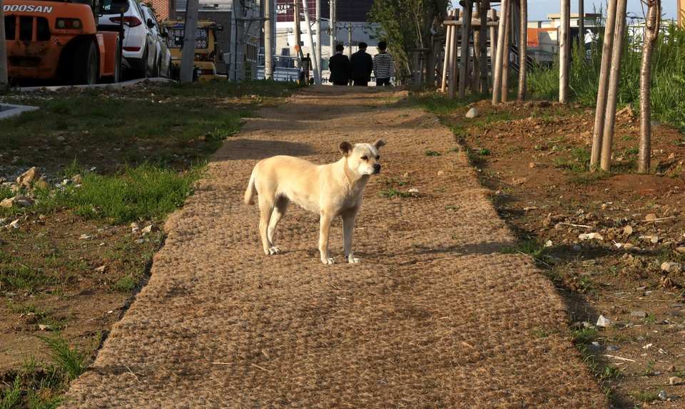
[[[181,46],[185,33],[183,20],[168,20],[162,24],[168,33],[167,46],[171,51],[171,72],[173,78],[178,78],[181,71]],[[213,21],[200,20],[195,35],[195,69],[199,81],[213,79],[225,79],[216,73],[216,61],[218,56],[216,44],[216,31],[221,30]]]

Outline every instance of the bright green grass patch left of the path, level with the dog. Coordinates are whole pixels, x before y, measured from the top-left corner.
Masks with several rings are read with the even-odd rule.
[[[129,167],[116,175],[87,172],[81,187],[70,186],[42,199],[86,219],[115,224],[162,219],[183,205],[200,173],[199,168],[179,173],[152,165]]]

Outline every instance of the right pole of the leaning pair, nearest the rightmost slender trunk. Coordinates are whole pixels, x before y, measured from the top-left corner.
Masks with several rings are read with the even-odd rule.
[[[614,26],[614,49],[612,50],[612,71],[609,74],[609,90],[607,91],[607,111],[604,114],[604,135],[602,136],[602,170],[609,171],[612,167],[612,146],[614,144],[614,125],[616,124],[616,98],[619,92],[619,77],[621,75],[621,55],[623,54],[623,38],[626,30],[626,2],[618,0],[616,5],[616,24]]]

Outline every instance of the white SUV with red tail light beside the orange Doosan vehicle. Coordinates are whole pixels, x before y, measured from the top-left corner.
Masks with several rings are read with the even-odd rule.
[[[106,4],[103,6],[106,13]],[[148,28],[141,6],[136,0],[128,0],[128,11],[123,14],[123,58],[133,69],[136,77],[148,77],[157,68],[157,48],[153,33]],[[113,30],[121,24],[120,14],[103,14],[98,26]]]

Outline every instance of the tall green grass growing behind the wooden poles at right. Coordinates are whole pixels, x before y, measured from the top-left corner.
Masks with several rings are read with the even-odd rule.
[[[591,48],[591,57],[574,47],[569,72],[570,97],[582,105],[597,103],[597,88],[602,58],[602,38]],[[617,103],[639,107],[640,38],[627,38],[621,60]],[[529,90],[535,98],[557,99],[559,65],[537,67],[529,73]],[[654,45],[651,107],[654,119],[685,129],[685,29],[671,24],[662,30]]]

